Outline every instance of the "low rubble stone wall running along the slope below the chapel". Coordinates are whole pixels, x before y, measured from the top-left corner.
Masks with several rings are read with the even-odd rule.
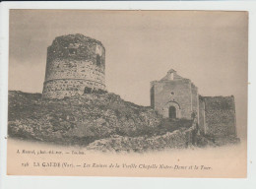
[[[114,135],[97,140],[87,149],[101,152],[145,152],[165,149],[184,149],[192,146],[194,128],[180,129],[154,137],[122,137]]]

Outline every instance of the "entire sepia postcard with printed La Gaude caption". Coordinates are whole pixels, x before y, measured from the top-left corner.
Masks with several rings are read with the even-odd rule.
[[[247,12],[9,22],[8,175],[247,176]]]

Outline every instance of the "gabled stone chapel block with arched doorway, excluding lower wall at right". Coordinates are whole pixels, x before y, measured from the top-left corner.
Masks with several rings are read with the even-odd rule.
[[[163,117],[190,119],[199,108],[197,87],[172,69],[160,81],[151,83],[151,98],[152,107]]]

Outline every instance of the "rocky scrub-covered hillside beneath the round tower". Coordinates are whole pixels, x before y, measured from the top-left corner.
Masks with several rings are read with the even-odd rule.
[[[40,94],[9,92],[8,134],[15,138],[87,146],[117,135],[164,135],[191,124],[191,120],[162,119],[151,107],[109,93],[42,99]]]

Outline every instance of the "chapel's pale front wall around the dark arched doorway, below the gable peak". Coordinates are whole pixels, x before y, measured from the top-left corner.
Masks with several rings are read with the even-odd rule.
[[[191,118],[192,94],[188,79],[153,82],[155,109],[168,117],[168,107],[173,105],[178,111],[178,118]]]

